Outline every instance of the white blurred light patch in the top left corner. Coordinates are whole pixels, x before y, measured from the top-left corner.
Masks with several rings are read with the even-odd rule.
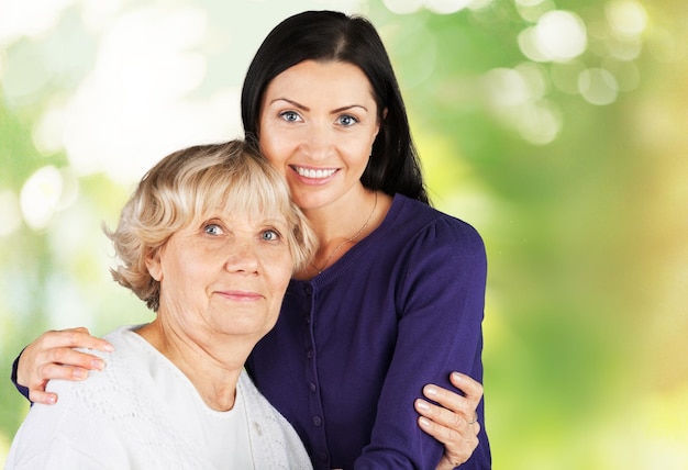
[[[57,23],[75,0],[21,0],[0,2],[0,45],[22,36],[38,36]]]

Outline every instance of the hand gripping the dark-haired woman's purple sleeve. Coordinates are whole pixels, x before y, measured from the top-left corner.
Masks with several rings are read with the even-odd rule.
[[[453,469],[468,460],[478,447],[480,432],[476,409],[482,399],[482,385],[459,372],[453,372],[450,380],[463,395],[429,384],[423,388],[423,394],[440,406],[422,399],[414,403],[415,411],[421,415],[421,428],[444,444],[444,455],[437,470]]]

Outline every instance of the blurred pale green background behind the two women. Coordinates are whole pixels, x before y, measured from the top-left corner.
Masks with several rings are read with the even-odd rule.
[[[267,31],[296,11],[332,8],[363,12],[378,26],[434,204],[485,238],[486,426],[495,468],[688,468],[688,3],[493,0],[440,14],[420,0],[410,13],[392,11],[402,2],[391,0],[122,0],[102,2],[100,29],[87,20],[88,2],[69,0],[53,2],[52,23],[41,25],[41,3],[0,4],[0,18],[23,9],[34,19],[13,35],[0,20],[0,461],[27,411],[9,382],[25,344],[47,328],[104,334],[151,317],[110,280],[111,250],[100,232],[102,221],[116,222],[142,172],[122,179],[98,167],[77,170],[67,149],[41,137],[51,122],[65,125],[60,114],[45,116],[88,85],[107,53],[103,32],[144,10],[148,19],[188,8],[203,13],[202,38],[187,48],[204,58],[204,72],[184,97],[206,104],[233,97],[235,110],[208,107],[225,128],[212,135],[231,138],[241,128],[236,90]],[[630,41],[637,54],[614,59],[609,12],[629,4],[645,13],[645,27]],[[586,51],[564,65],[533,61],[519,46],[522,32],[553,10],[574,12],[586,26]],[[140,66],[158,65],[153,58]],[[565,66],[608,70],[615,98],[592,104],[557,86]],[[496,101],[490,91],[490,77],[509,70],[539,77],[525,104]],[[518,85],[508,81],[502,91],[512,96]],[[132,120],[165,104],[143,101]],[[554,135],[529,126],[533,107],[552,111]],[[226,127],[218,124],[224,119]],[[84,132],[99,123],[91,125]],[[143,168],[211,134],[179,136],[160,126]],[[125,131],[102,133],[121,143]],[[109,143],[101,145],[104,152]],[[49,221],[36,227],[19,201],[46,166],[62,172],[64,187]]]

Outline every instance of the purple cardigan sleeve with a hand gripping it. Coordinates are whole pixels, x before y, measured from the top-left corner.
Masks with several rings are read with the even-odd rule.
[[[434,469],[444,447],[418,426],[413,401],[436,383],[455,390],[456,370],[482,382],[487,260],[478,233],[455,219],[435,221],[400,257],[398,335],[378,402],[371,440],[355,468]],[[480,444],[460,469],[489,469],[482,402]]]

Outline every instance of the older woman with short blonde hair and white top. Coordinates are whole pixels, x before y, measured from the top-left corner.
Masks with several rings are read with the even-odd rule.
[[[282,178],[243,142],[174,153],[141,181],[114,232],[114,279],[157,313],[106,338],[90,380],[54,380],[13,468],[310,468],[244,371],[314,237]]]

